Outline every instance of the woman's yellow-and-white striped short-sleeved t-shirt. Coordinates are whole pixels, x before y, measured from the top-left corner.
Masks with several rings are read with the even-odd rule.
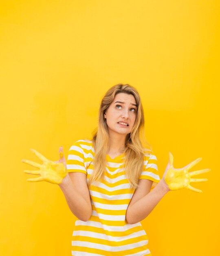
[[[93,171],[92,140],[82,139],[70,147],[68,172],[82,172],[88,179]],[[151,256],[148,237],[140,222],[129,224],[125,219],[135,189],[122,168],[124,154],[114,159],[106,155],[102,182],[89,187],[92,215],[86,222],[75,221],[72,236],[73,256]],[[155,155],[144,156],[144,169],[139,179],[152,180],[152,188],[160,181]],[[152,190],[151,188],[151,190]]]

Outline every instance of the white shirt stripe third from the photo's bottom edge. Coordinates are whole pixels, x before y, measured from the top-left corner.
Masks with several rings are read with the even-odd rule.
[[[96,233],[93,231],[75,230],[73,231],[73,236],[88,236],[88,237],[99,238],[99,239],[112,241],[112,242],[121,242],[130,238],[138,238],[139,236],[146,236],[146,233],[144,230],[142,230],[142,231],[134,232],[127,236],[108,236],[106,234]]]

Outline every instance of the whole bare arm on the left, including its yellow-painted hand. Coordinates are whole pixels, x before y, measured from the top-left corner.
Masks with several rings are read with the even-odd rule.
[[[81,173],[81,170],[68,174],[62,147],[59,148],[59,160],[55,162],[46,159],[46,157],[37,152],[37,150],[31,149],[31,151],[43,161],[43,164],[38,164],[26,159],[22,160],[22,162],[26,164],[40,168],[39,171],[24,171],[24,173],[40,175],[37,178],[28,179],[28,181],[46,181],[58,184],[73,214],[80,220],[87,221],[92,214],[92,205],[86,174]]]

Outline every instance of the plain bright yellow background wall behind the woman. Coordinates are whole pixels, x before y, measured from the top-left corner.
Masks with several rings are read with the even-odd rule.
[[[140,93],[160,176],[211,168],[203,193],[171,191],[142,221],[153,256],[219,249],[219,1],[0,3],[0,255],[70,256],[75,217],[59,186],[29,183],[29,148],[58,159],[97,126],[112,85]]]

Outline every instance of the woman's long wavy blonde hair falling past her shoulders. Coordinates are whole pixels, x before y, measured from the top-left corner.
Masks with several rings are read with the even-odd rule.
[[[152,147],[147,142],[144,133],[144,112],[141,103],[141,97],[137,90],[129,85],[119,83],[112,86],[104,95],[99,107],[98,127],[92,132],[92,145],[95,150],[95,157],[93,161],[93,172],[88,180],[88,186],[92,183],[100,182],[104,178],[104,171],[106,169],[106,155],[109,149],[109,135],[108,126],[104,113],[112,103],[114,97],[118,93],[132,94],[136,100],[137,112],[136,120],[132,131],[127,134],[125,138],[125,150],[123,168],[125,168],[125,175],[130,182],[130,188],[136,189],[138,187],[139,176],[143,171],[143,157],[145,153],[151,153]]]

